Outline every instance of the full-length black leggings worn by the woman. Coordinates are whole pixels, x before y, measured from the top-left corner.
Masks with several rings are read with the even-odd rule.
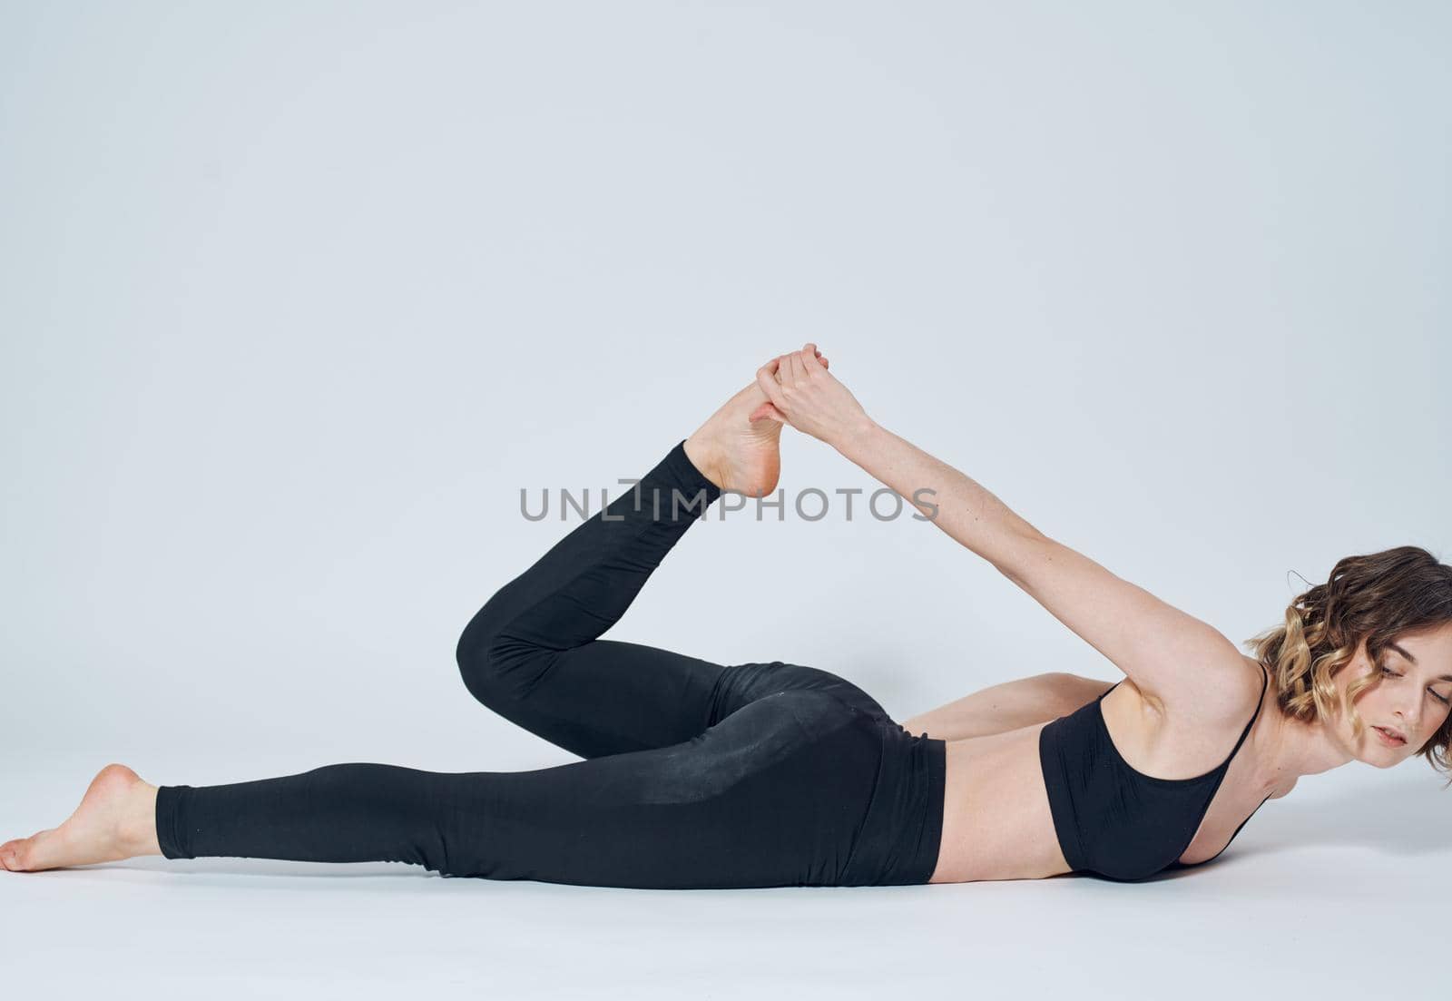
[[[684,445],[505,584],[459,639],[479,702],[587,760],[465,773],[330,764],[161,786],[161,853],[591,886],[928,882],[941,739],[908,734],[817,668],[598,639],[722,493]]]

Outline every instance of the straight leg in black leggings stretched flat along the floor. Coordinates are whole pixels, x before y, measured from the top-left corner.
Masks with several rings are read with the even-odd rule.
[[[168,859],[407,862],[447,876],[627,888],[836,885],[874,799],[881,724],[820,692],[687,741],[531,771],[334,764],[161,786]]]

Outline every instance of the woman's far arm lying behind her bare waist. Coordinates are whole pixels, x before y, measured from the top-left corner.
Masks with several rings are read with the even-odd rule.
[[[945,741],[1005,734],[1019,726],[1067,716],[1114,687],[1112,681],[1051,671],[992,684],[957,702],[903,721],[909,734],[926,732]]]

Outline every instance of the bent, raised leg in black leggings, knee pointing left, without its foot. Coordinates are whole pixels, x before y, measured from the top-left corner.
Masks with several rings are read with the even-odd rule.
[[[720,497],[684,446],[475,613],[457,661],[479,702],[582,757],[665,747],[716,722],[723,665],[598,639]]]

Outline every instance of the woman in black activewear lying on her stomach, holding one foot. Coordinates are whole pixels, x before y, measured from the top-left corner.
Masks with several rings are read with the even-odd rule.
[[[775,490],[783,424],[909,498],[1128,677],[1041,674],[899,725],[817,668],[600,639],[723,491]],[[0,846],[0,862],[392,860],[636,888],[1144,879],[1212,859],[1302,774],[1413,754],[1446,770],[1452,568],[1426,551],[1340,561],[1255,652],[877,426],[809,343],[762,366],[465,628],[469,690],[582,761],[354,763],[202,787],[112,764],[70,819]]]

